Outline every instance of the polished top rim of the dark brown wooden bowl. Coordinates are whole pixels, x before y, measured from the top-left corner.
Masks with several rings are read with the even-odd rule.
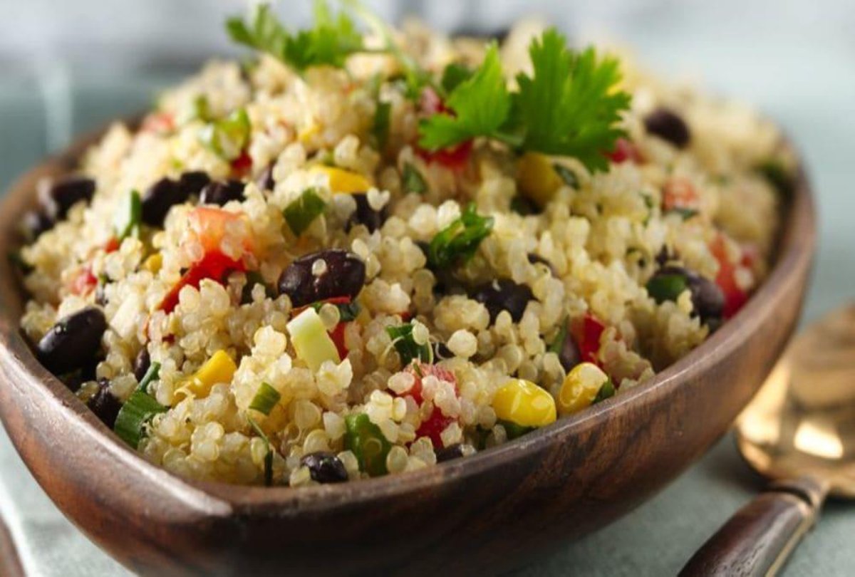
[[[21,207],[27,202],[19,197],[29,193],[31,198],[28,204],[32,206],[35,202],[35,194],[23,188],[28,180],[33,180],[34,174],[44,171],[45,168],[50,174],[57,174],[61,172],[57,169],[59,167],[65,168],[68,172],[74,162],[80,158],[82,151],[89,144],[96,142],[103,132],[99,130],[80,138],[64,153],[46,159],[21,176],[9,188],[9,194],[0,205],[2,206],[0,231],[15,226],[20,220]],[[480,474],[485,469],[495,469],[496,474],[501,474],[502,468],[522,453],[543,449],[574,430],[581,431],[596,427],[599,421],[603,421],[603,416],[606,414],[637,403],[654,405],[662,397],[673,394],[685,380],[691,380],[703,374],[705,368],[714,364],[716,359],[726,357],[731,351],[740,348],[756,333],[762,319],[774,315],[772,309],[775,307],[776,299],[772,297],[780,293],[783,287],[796,281],[789,274],[791,269],[798,268],[795,263],[811,259],[816,242],[815,209],[812,197],[805,172],[800,169],[795,191],[787,210],[788,214],[781,221],[782,244],[769,276],[739,314],[680,361],[628,392],[611,397],[576,415],[563,417],[550,426],[528,433],[520,439],[481,451],[474,456],[440,463],[410,473],[355,480],[340,485],[299,488],[237,486],[215,481],[183,479],[146,461],[127,447],[83,403],[80,403],[74,393],[42,367],[21,336],[20,319],[8,318],[10,309],[6,297],[9,294],[8,291],[0,291],[5,293],[0,294],[0,311],[2,311],[0,312],[0,334],[4,340],[0,355],[5,357],[4,362],[14,363],[27,374],[32,375],[39,386],[44,386],[50,392],[50,401],[56,402],[56,406],[52,409],[58,410],[69,425],[82,427],[83,430],[80,433],[85,433],[85,437],[115,456],[117,466],[133,469],[139,476],[155,482],[163,490],[181,498],[187,505],[192,505],[205,515],[233,515],[233,512],[239,509],[245,513],[251,512],[252,515],[290,516],[312,510],[333,509],[339,505],[357,501],[367,503],[388,497],[403,497],[412,492],[440,490],[445,482]],[[3,278],[0,282],[8,287],[9,283],[14,281]],[[7,386],[30,386],[30,384],[7,383]],[[50,409],[45,408],[45,412],[49,412]]]

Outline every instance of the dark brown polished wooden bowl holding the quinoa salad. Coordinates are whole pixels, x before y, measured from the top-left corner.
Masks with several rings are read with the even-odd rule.
[[[95,136],[26,174],[0,208],[20,244],[37,180],[67,173]],[[0,262],[0,416],[27,466],[90,539],[143,574],[475,574],[578,537],[650,498],[728,430],[799,318],[815,246],[804,175],[769,279],[711,339],[642,386],[475,456],[339,486],[180,479],[137,456],[43,368],[18,328]],[[703,498],[699,495],[699,498]]]

